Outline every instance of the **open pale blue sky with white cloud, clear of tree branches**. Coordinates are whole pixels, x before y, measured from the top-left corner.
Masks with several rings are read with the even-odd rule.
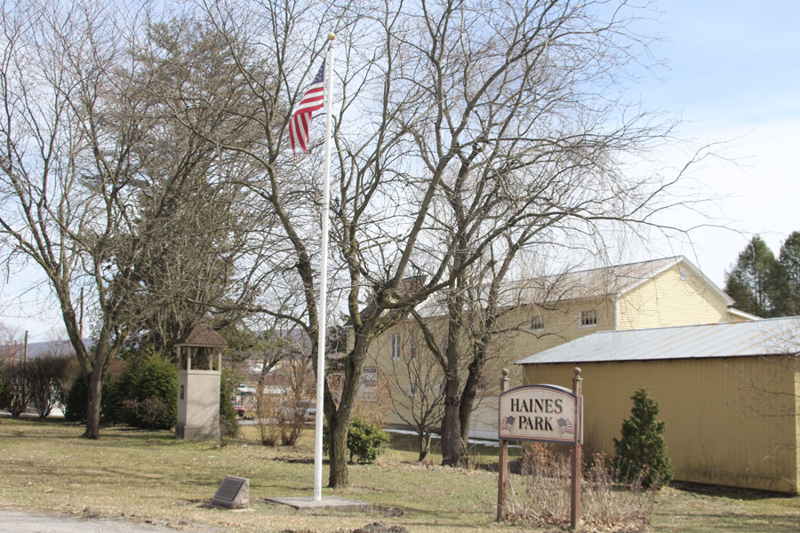
[[[800,230],[800,2],[773,0],[662,0],[640,21],[640,32],[659,36],[652,44],[664,67],[632,86],[645,107],[682,118],[671,155],[683,164],[692,147],[714,146],[715,157],[692,167],[698,195],[708,205],[708,227],[693,230],[691,242],[661,242],[633,251],[630,259],[684,254],[719,286],[753,235],[775,254]],[[687,152],[688,150],[688,152]],[[666,219],[692,226],[699,219]],[[20,281],[19,279],[17,280]],[[15,283],[17,285],[19,283]],[[20,294],[6,285],[0,322],[30,330],[31,340],[52,338],[58,314],[43,305],[46,291]]]

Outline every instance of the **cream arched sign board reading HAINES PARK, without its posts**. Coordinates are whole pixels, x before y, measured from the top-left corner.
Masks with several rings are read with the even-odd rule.
[[[518,386],[500,394],[500,439],[509,441],[580,441],[578,402],[562,386]]]

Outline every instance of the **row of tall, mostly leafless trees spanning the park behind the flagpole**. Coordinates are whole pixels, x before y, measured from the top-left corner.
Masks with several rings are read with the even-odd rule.
[[[2,261],[39,268],[58,302],[85,436],[111,364],[198,322],[297,330],[316,358],[322,136],[295,158],[287,131],[333,31],[329,308],[352,342],[335,401],[325,388],[329,484],[348,485],[369,348],[408,317],[444,372],[444,462],[462,464],[508,281],[554,249],[669,231],[654,216],[687,202],[681,172],[635,170],[673,124],[627,99],[648,40],[612,4],[4,4]],[[442,331],[417,314],[430,298]]]

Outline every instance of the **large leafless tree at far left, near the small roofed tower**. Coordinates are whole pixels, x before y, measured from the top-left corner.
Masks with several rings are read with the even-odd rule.
[[[201,64],[209,83],[236,87],[213,53],[219,47],[170,41],[180,31],[154,26],[148,9],[128,10],[38,0],[3,7],[3,259],[32,262],[46,276],[89,384],[90,438],[99,436],[108,363],[126,339],[148,335],[169,347],[210,301],[236,308],[259,281],[248,267],[260,267],[262,251],[251,236],[264,211],[229,179],[247,169],[176,127],[159,90],[196,77],[186,67]],[[204,89],[240,102],[235,90]],[[236,119],[187,113],[220,135],[246,137]],[[81,289],[91,350],[76,316]]]

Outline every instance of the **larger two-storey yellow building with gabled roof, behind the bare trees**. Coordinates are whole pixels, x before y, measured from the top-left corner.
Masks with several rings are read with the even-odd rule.
[[[602,330],[637,330],[698,323],[756,319],[732,309],[733,300],[682,256],[550,275],[508,284],[502,324],[508,333],[492,341],[482,384],[483,400],[472,417],[470,434],[497,438],[500,370],[531,354]],[[446,338],[447,320],[436,301],[420,314],[437,341]],[[425,347],[413,320],[397,324],[373,341],[367,366],[377,367],[396,404],[420,410],[421,399],[440,390],[442,370]],[[522,376],[512,373],[513,384]],[[437,388],[439,387],[439,388]],[[427,389],[428,394],[423,394]],[[402,402],[397,402],[402,400]],[[408,424],[407,413],[389,421]]]

